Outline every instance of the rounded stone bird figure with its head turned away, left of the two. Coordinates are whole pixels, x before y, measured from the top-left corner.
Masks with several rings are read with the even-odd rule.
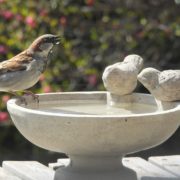
[[[137,75],[142,67],[143,59],[136,54],[106,67],[102,75],[105,88],[111,94],[120,96],[132,93],[137,86]]]

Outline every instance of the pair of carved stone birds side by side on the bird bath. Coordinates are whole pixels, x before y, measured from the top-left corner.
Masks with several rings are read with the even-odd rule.
[[[123,96],[132,93],[139,80],[157,100],[180,100],[180,70],[160,72],[142,67],[143,59],[138,55],[129,55],[123,62],[108,66],[102,76],[105,88]]]

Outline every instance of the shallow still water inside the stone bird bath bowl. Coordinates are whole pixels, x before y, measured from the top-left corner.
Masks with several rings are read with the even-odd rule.
[[[129,115],[151,113],[157,111],[157,106],[140,103],[123,103],[119,106],[109,106],[101,101],[61,101],[42,103],[38,107],[29,107],[42,112],[63,114],[89,114],[89,115]]]

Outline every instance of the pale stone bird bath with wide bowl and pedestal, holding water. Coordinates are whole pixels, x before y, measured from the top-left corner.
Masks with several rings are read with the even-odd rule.
[[[161,144],[180,120],[180,103],[158,108],[151,95],[141,93],[49,93],[39,96],[39,105],[26,100],[27,106],[8,101],[17,129],[35,145],[71,159],[56,171],[56,180],[136,179],[122,157]]]

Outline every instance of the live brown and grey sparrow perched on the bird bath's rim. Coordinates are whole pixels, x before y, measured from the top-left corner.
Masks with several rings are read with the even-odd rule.
[[[60,37],[45,34],[35,39],[23,52],[0,63],[0,91],[17,95],[17,91],[27,91],[34,86],[49,63],[49,54],[54,45],[60,43]]]

